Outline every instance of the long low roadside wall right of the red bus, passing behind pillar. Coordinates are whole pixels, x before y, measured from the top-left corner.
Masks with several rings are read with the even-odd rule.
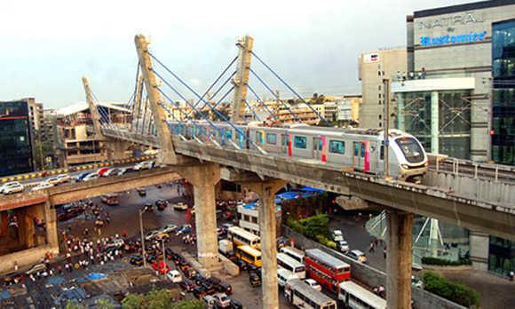
[[[368,285],[368,287],[376,287],[378,285],[386,286],[386,273],[381,272],[375,268],[372,268],[369,265],[361,264],[354,261],[351,258],[345,257],[345,255],[337,252],[336,250],[331,250],[325,246],[322,246],[318,242],[313,242],[310,239],[305,238],[303,235],[298,234],[292,231],[288,226],[282,226],[284,233],[283,236],[287,239],[293,237],[295,240],[296,247],[302,249],[312,249],[318,248],[323,250],[330,255],[339,258],[345,263],[351,265],[351,273],[353,279],[357,281],[361,281]],[[438,297],[432,293],[425,291],[424,289],[416,289],[413,288],[412,298],[414,301],[414,305],[416,308],[445,308],[445,309],[464,309],[465,307],[462,305],[457,305],[453,302],[448,301],[442,297]]]

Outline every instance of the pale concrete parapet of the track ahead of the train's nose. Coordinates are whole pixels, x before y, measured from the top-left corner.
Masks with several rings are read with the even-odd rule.
[[[460,176],[446,171],[428,170],[423,184],[448,189],[454,194],[474,198],[483,202],[497,202],[503,205],[515,205],[515,185],[495,182],[494,180]]]

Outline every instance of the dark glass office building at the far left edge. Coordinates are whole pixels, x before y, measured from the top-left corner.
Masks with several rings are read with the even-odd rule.
[[[27,100],[0,102],[0,176],[34,170]]]

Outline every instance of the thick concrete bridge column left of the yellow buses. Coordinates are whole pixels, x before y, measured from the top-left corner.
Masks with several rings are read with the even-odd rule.
[[[219,269],[215,185],[220,168],[215,164],[188,167],[183,175],[194,185],[198,260],[208,270]]]

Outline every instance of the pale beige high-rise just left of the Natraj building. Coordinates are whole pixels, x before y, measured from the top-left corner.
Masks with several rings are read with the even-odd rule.
[[[362,53],[358,59],[362,103],[361,128],[382,128],[384,125],[384,79],[406,72],[406,48]],[[391,102],[390,110],[394,104]],[[390,119],[393,127],[394,119]]]

